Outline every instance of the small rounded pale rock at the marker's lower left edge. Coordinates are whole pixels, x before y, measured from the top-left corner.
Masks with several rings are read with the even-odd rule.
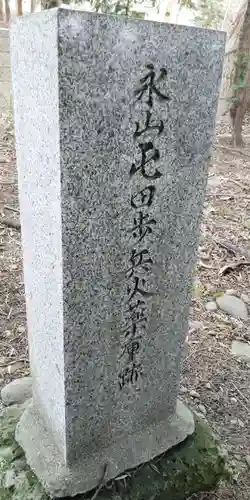
[[[31,377],[13,380],[2,389],[1,397],[6,406],[15,403],[24,403],[27,399],[32,397]]]

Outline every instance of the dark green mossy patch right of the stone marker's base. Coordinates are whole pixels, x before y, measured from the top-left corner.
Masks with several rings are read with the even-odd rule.
[[[210,429],[196,419],[194,434],[183,443],[114,481],[113,500],[185,500],[215,488],[222,479],[229,479],[225,458]],[[107,498],[112,500],[110,490],[98,496]]]

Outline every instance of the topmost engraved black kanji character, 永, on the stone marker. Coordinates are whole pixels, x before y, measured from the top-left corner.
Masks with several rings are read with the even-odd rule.
[[[150,108],[153,106],[153,93],[157,95],[157,97],[162,101],[170,101],[170,97],[168,95],[162,94],[162,92],[155,85],[155,69],[153,64],[146,64],[146,68],[149,72],[143,77],[140,78],[141,87],[135,90],[135,95],[137,97],[137,101],[141,101],[145,92],[147,92],[147,101],[146,103]],[[166,79],[167,70],[165,68],[160,69],[160,75],[156,81],[161,81]]]

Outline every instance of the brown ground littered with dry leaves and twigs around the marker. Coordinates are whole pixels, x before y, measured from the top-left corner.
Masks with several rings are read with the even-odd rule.
[[[3,220],[19,222],[14,136],[11,122],[0,131],[0,385],[29,373],[20,231]],[[250,320],[208,312],[206,302],[234,289],[250,296],[250,266],[223,271],[225,265],[250,261],[250,125],[245,148],[229,146],[228,127],[219,127],[209,172],[201,227],[199,259],[190,311],[181,397],[200,412],[229,450],[235,465],[232,484],[192,500],[249,500],[250,363],[230,351],[233,339],[250,342]],[[17,211],[15,211],[15,210]],[[238,247],[236,255],[219,242]],[[246,257],[244,259],[244,257]],[[250,310],[249,310],[250,314]],[[199,322],[197,324],[192,322]],[[194,392],[195,391],[195,392]]]

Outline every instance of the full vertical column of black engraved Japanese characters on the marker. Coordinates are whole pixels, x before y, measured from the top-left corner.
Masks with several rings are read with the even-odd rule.
[[[135,175],[140,176],[148,181],[148,185],[134,192],[130,199],[133,215],[127,233],[131,242],[131,253],[126,270],[126,319],[121,332],[120,356],[122,359],[125,357],[126,364],[118,375],[121,390],[127,385],[135,385],[140,377],[143,377],[140,348],[148,321],[147,301],[155,295],[147,280],[154,264],[148,244],[149,236],[154,233],[157,225],[157,220],[150,214],[150,209],[154,203],[157,181],[163,175],[157,168],[161,154],[156,141],[164,130],[164,123],[155,116],[154,102],[158,99],[168,105],[171,98],[165,90],[162,90],[166,79],[165,68],[160,68],[157,72],[153,64],[147,64],[146,74],[140,78],[140,85],[134,92],[136,101],[141,101],[146,109],[144,121],[135,122],[133,134],[140,160],[132,163],[128,175],[130,180]]]

